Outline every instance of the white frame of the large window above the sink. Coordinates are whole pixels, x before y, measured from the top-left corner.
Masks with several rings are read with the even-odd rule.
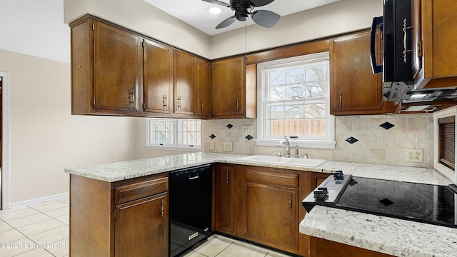
[[[326,85],[326,94],[325,94],[325,106],[326,106],[326,130],[325,136],[306,136],[306,138],[290,138],[289,136],[294,135],[283,135],[278,136],[278,138],[272,138],[271,136],[266,136],[266,114],[267,110],[265,100],[267,99],[268,90],[265,89],[266,76],[263,74],[264,69],[268,69],[271,66],[278,66],[283,64],[291,64],[294,62],[301,61],[313,61],[317,59],[329,59],[328,52],[322,52],[318,54],[307,54],[304,56],[295,56],[286,59],[278,59],[274,61],[267,61],[261,64],[257,64],[257,146],[277,146],[278,141],[283,138],[283,136],[288,136],[288,140],[291,143],[291,146],[300,146],[306,148],[335,148],[335,116],[330,114],[330,70],[328,70],[328,78]],[[308,99],[312,103],[313,99]],[[306,100],[305,100],[306,102]]]

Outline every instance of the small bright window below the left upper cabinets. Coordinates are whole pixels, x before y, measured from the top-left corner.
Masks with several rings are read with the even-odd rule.
[[[146,147],[200,151],[201,121],[148,118],[146,121]]]

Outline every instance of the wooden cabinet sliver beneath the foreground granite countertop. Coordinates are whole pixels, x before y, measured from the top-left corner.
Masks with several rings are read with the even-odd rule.
[[[336,243],[322,238],[315,238],[311,236],[311,257],[388,257],[386,253],[378,253],[356,246],[348,246],[343,243]]]

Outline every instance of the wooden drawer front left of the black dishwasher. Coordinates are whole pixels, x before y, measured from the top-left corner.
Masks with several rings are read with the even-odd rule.
[[[169,188],[169,178],[158,178],[151,181],[134,183],[116,188],[116,204],[162,193]]]

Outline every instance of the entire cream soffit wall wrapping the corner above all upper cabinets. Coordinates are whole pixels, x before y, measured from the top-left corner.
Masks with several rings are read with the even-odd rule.
[[[201,0],[195,0],[201,1]],[[303,1],[303,0],[302,0]],[[366,29],[383,0],[341,0],[283,16],[271,29],[253,25],[208,36],[143,0],[64,0],[65,21],[90,13],[209,59]]]

